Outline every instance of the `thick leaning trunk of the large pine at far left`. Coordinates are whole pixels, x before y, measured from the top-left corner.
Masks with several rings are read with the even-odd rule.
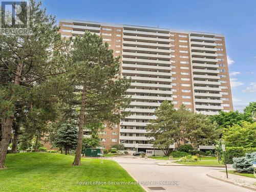
[[[14,79],[14,84],[16,86],[19,86],[20,84],[20,75],[22,74],[22,68],[23,68],[23,60],[21,60],[18,63],[18,67],[17,67],[17,71],[16,71],[16,75],[15,75],[15,79]],[[12,89],[12,94],[15,94],[15,90]],[[11,132],[12,132],[12,123],[13,123],[13,118],[14,118],[14,113],[16,110],[16,106],[14,104],[13,106],[13,111],[11,113],[8,114],[7,117],[3,118],[3,124],[2,124],[2,129],[3,131],[3,135],[2,135],[2,141],[0,144],[0,168],[4,168],[5,167],[5,158],[6,158],[6,154],[8,151],[8,145],[11,139]]]

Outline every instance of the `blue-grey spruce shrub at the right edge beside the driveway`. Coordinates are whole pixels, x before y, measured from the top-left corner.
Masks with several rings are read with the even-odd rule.
[[[247,153],[245,157],[234,157],[233,168],[238,172],[253,173],[252,162],[256,161],[256,152]]]

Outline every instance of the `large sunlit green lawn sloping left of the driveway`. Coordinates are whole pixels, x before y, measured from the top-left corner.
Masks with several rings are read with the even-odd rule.
[[[0,169],[0,191],[144,191],[139,185],[78,185],[77,182],[133,182],[115,161],[81,160],[53,153],[8,154],[6,169]]]

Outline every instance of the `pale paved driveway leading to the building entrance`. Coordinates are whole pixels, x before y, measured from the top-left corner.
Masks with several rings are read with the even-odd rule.
[[[138,182],[159,182],[166,181],[165,185],[155,183],[145,183],[143,188],[146,191],[155,191],[163,187],[165,190],[156,191],[182,191],[182,192],[245,192],[252,191],[240,186],[225,183],[223,181],[211,179],[206,176],[209,172],[225,170],[225,168],[214,167],[193,167],[193,166],[159,166],[156,163],[161,160],[138,159],[132,156],[114,157],[113,160],[118,162],[135,180]],[[173,183],[172,183],[173,181]],[[175,185],[178,182],[178,185]],[[168,183],[174,185],[168,185]]]

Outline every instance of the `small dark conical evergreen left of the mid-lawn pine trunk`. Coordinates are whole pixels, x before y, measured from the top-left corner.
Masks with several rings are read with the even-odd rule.
[[[63,124],[56,132],[54,145],[65,148],[66,155],[69,150],[75,150],[77,145],[77,127],[69,123]]]

